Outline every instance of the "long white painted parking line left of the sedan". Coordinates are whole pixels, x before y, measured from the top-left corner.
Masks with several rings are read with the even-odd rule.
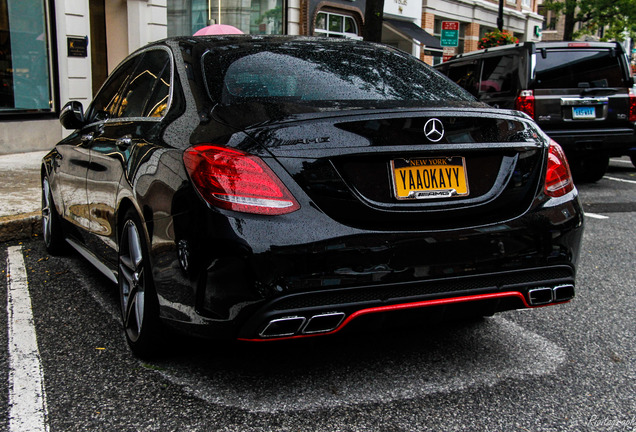
[[[44,375],[22,248],[8,248],[9,431],[48,431]]]

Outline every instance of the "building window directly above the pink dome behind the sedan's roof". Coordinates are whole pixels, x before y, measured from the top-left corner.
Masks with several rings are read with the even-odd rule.
[[[168,36],[193,35],[210,23],[246,34],[284,34],[283,6],[283,0],[168,0]]]

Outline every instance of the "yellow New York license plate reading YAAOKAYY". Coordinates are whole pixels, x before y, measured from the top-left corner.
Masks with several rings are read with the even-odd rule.
[[[391,161],[393,190],[399,200],[468,195],[466,161],[461,156]]]

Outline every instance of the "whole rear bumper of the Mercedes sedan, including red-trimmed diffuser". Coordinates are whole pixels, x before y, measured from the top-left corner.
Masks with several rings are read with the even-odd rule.
[[[333,333],[365,315],[451,306],[491,314],[574,295],[576,190],[513,220],[456,230],[364,231],[305,211],[314,210],[276,224],[216,212],[184,224],[175,243],[191,245],[187,271],[169,249],[155,266],[164,320],[205,337],[271,340]],[[175,272],[188,282],[175,284]],[[570,288],[552,294],[559,286]]]

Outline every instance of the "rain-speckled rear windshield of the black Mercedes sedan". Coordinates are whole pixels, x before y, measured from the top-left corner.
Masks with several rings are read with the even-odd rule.
[[[364,44],[304,41],[223,46],[208,50],[202,61],[210,97],[224,105],[252,101],[425,105],[475,100],[423,62]]]

